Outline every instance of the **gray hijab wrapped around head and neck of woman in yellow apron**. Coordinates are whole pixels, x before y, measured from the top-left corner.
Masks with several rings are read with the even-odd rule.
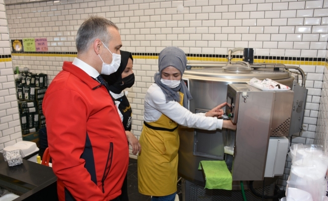
[[[180,94],[178,91],[181,91],[184,94],[183,107],[188,109],[188,100],[193,99],[191,96],[185,82],[181,79],[181,83],[176,88],[170,88],[167,85],[163,84],[161,79],[161,71],[165,68],[173,66],[177,68],[181,76],[185,72],[187,66],[187,57],[185,52],[178,47],[167,47],[159,53],[158,57],[158,71],[154,75],[155,83],[161,88],[165,94],[167,103],[171,100],[180,102]]]

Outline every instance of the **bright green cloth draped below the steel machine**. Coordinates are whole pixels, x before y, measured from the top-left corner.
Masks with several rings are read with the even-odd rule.
[[[208,189],[232,190],[232,176],[225,161],[202,160],[198,169],[203,169]]]

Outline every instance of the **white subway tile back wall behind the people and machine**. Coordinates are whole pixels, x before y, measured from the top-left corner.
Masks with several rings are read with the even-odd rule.
[[[5,1],[13,4],[21,0]],[[179,4],[184,5],[182,12],[177,11]],[[7,47],[8,38],[25,37],[46,37],[51,52],[75,52],[76,31],[83,19],[91,14],[104,16],[116,23],[120,28],[122,50],[137,53],[159,53],[170,45],[181,47],[186,53],[192,54],[225,55],[228,49],[234,47],[255,48],[255,55],[258,56],[325,58],[327,52],[326,0],[58,0],[7,5],[6,11],[10,34],[6,35],[7,28],[0,29],[2,39],[6,39],[6,42],[0,42],[0,54],[11,53]],[[4,20],[0,19],[0,26],[6,27],[4,11],[0,12],[1,16]],[[29,67],[31,72],[47,73],[51,82],[61,70],[62,62],[72,59],[60,56],[13,56],[13,64]],[[133,66],[135,84],[128,89],[128,98],[133,108],[132,132],[139,137],[143,120],[143,97],[158,67],[154,59],[135,59]],[[322,99],[322,94],[327,93],[328,86],[324,79],[328,73],[326,67],[321,65],[298,66],[307,74],[306,87],[309,91],[304,118],[307,127],[301,134],[294,134],[293,143],[313,143],[314,136],[320,140],[327,136],[327,124],[316,125],[321,121],[320,117],[327,117],[327,98]],[[0,95],[10,93],[12,87],[13,80],[7,80],[6,76],[0,76],[0,82],[6,83],[0,84],[0,87],[9,92],[0,90]],[[320,86],[325,90],[321,90]],[[321,107],[321,102],[318,103],[320,96],[325,108]],[[7,116],[12,115],[8,110],[15,108],[12,105],[15,101],[6,103],[8,98],[11,97],[0,96],[0,110],[7,112],[6,116],[0,117],[0,121],[1,118],[7,121]],[[325,115],[321,115],[322,112]],[[4,125],[1,122],[0,130],[7,129],[10,129],[8,122]],[[324,132],[322,135],[314,135],[315,130],[316,133]],[[0,138],[0,143],[11,141],[6,137]],[[131,152],[130,156],[135,158]],[[289,168],[290,161],[287,160],[286,174],[280,177],[279,185],[285,186]]]

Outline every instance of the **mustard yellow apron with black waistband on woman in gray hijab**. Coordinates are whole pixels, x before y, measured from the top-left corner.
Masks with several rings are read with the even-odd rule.
[[[184,94],[180,104],[183,103]],[[138,189],[145,195],[165,196],[177,191],[178,124],[165,115],[144,123],[139,143]]]

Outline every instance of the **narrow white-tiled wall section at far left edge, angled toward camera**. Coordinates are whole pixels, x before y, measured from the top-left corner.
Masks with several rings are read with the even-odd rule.
[[[20,10],[22,12],[24,10]],[[22,14],[17,14],[22,18]],[[24,16],[28,17],[28,16]],[[26,31],[26,30],[23,30]],[[4,1],[0,1],[0,55],[11,55]],[[4,58],[4,57],[2,57]],[[0,151],[22,141],[12,61],[0,61]]]

